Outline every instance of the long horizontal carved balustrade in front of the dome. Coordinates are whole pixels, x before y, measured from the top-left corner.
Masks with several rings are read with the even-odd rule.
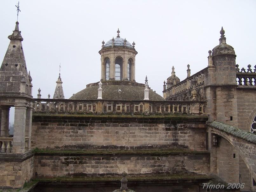
[[[204,114],[199,101],[35,99],[34,114]]]

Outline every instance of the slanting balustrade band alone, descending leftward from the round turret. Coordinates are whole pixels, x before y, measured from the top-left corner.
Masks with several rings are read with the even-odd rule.
[[[195,87],[201,86],[205,84],[205,74],[207,73],[207,68],[197,72],[196,74],[186,78],[173,85],[172,87],[166,89],[164,92],[166,94],[166,98],[172,98],[172,96],[179,95],[182,92],[186,92],[187,90],[191,90],[193,88],[192,81],[196,81]],[[184,100],[183,98],[181,100]],[[188,99],[189,100],[189,99]]]

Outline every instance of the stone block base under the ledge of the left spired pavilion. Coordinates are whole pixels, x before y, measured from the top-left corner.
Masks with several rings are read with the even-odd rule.
[[[24,183],[32,178],[33,169],[33,156],[23,162],[0,162],[0,188],[23,187]]]

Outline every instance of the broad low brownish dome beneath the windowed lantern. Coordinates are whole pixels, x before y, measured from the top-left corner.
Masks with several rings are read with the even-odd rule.
[[[98,82],[99,83],[99,82]],[[77,92],[70,99],[97,99],[98,83],[86,85],[86,88]],[[121,91],[120,91],[120,90]],[[103,81],[102,99],[103,100],[144,100],[145,85],[127,81]],[[118,91],[119,90],[119,91]],[[165,99],[149,89],[149,100],[165,101]]]

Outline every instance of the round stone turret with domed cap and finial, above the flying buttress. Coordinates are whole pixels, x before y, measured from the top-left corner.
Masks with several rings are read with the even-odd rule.
[[[212,56],[209,56],[212,62],[209,64],[208,80],[213,97],[206,96],[206,98],[213,99],[209,101],[212,108],[216,109],[210,109],[216,111],[215,114],[212,114],[213,119],[237,127],[236,55],[234,48],[226,44],[224,33],[225,31],[221,28],[219,45],[213,48]]]

